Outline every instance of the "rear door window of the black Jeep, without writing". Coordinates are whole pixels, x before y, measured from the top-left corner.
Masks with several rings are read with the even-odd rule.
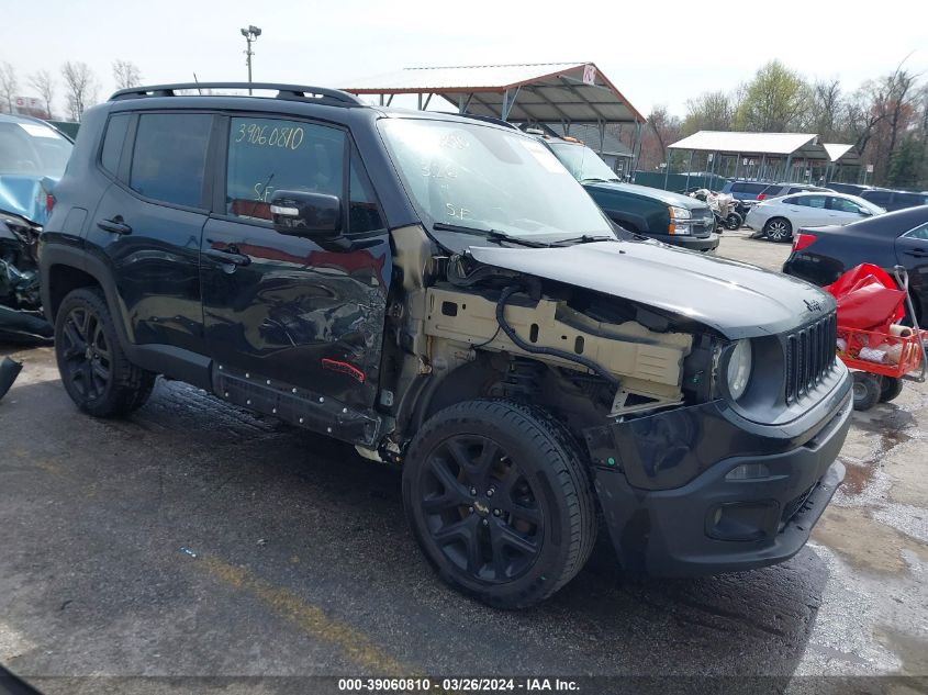
[[[146,198],[200,208],[212,120],[204,113],[142,114],[130,188]]]

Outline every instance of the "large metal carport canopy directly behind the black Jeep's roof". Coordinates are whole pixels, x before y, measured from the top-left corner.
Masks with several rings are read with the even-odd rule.
[[[358,79],[353,94],[438,94],[459,111],[530,123],[644,123],[593,63],[405,68]],[[387,101],[389,103],[389,100]]]

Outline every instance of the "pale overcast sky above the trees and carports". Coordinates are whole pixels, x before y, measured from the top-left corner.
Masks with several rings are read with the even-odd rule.
[[[264,30],[255,80],[347,87],[403,67],[590,60],[642,113],[666,104],[680,115],[686,99],[734,89],[772,58],[809,78],[839,77],[849,91],[908,54],[906,65],[928,77],[925,0],[614,0],[555,2],[548,13],[527,13],[528,4],[10,0],[0,61],[15,67],[21,96],[34,96],[30,72],[58,77],[65,60],[91,66],[100,100],[113,90],[115,58],[138,65],[146,83],[189,81],[193,72],[201,81],[244,80],[239,29],[255,24]],[[63,112],[60,86],[57,102]]]

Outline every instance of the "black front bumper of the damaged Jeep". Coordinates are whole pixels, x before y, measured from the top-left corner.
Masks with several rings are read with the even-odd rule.
[[[662,440],[657,448],[653,438],[649,444],[641,430],[635,431],[640,419],[610,428],[612,449],[602,431],[589,433],[595,489],[622,567],[633,574],[693,576],[793,557],[845,478],[836,458],[850,427],[850,391],[842,390],[832,405],[816,427],[785,439],[746,431],[720,413],[708,416],[714,403],[645,418]],[[681,411],[691,423],[683,431]],[[674,448],[675,457],[668,453]],[[646,457],[658,467],[666,461],[677,466],[719,451],[726,455],[708,466],[703,462],[701,473],[669,490],[642,487],[633,472]],[[746,463],[761,463],[767,472],[747,480],[726,478]]]

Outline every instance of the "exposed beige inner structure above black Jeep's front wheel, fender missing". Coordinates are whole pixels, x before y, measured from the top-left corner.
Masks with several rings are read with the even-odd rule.
[[[389,312],[388,343],[400,372],[401,439],[461,399],[529,400],[581,431],[604,417],[709,397],[712,330],[468,254],[433,255],[417,227],[393,238],[403,287]]]

